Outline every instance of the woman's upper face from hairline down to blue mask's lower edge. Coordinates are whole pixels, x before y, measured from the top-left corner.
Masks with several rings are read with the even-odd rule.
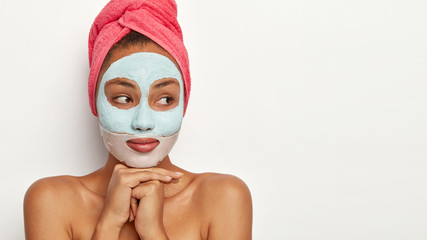
[[[97,112],[115,133],[170,136],[181,126],[183,83],[175,60],[154,43],[119,48],[100,74]]]

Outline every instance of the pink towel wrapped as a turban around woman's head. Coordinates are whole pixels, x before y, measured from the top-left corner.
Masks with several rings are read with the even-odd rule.
[[[175,60],[184,82],[184,114],[190,97],[190,69],[174,0],[112,0],[95,18],[89,33],[89,103],[97,116],[96,81],[111,47],[131,30],[144,34]]]

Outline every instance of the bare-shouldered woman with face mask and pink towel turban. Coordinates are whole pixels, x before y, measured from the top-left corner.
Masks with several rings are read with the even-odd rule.
[[[175,3],[109,2],[92,25],[89,58],[107,162],[35,182],[24,200],[27,239],[251,239],[247,186],[168,156],[190,93]]]

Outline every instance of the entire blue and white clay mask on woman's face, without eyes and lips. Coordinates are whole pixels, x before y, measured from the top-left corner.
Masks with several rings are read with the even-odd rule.
[[[121,109],[108,100],[106,84],[118,78],[138,85],[141,97],[136,106]],[[149,104],[150,87],[167,78],[176,79],[179,83],[178,104],[165,111],[156,111]],[[96,102],[101,135],[108,151],[130,167],[155,166],[169,153],[178,137],[184,113],[183,89],[180,71],[163,55],[137,52],[112,63],[99,83]],[[133,150],[127,144],[133,139],[140,143],[148,138],[159,142],[149,152]]]

